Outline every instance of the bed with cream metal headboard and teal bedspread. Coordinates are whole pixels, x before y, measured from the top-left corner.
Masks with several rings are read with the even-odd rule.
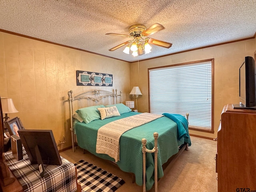
[[[70,124],[72,134],[72,146],[75,150],[76,144],[89,151],[90,153],[115,162],[115,159],[107,154],[96,153],[96,140],[99,128],[123,118],[136,116],[140,113],[132,112],[128,107],[122,104],[122,92],[120,94],[93,90],[72,96],[72,90],[68,92],[70,102]],[[103,105],[103,107],[116,106],[120,111],[120,116],[105,118],[104,120],[96,119],[91,122],[80,122],[76,117],[82,116],[78,114],[77,109],[94,107]],[[125,108],[126,107],[126,108]],[[78,112],[76,114],[76,112]],[[143,124],[136,128],[132,128],[122,134],[120,137],[120,160],[116,162],[121,170],[130,172],[135,175],[136,184],[143,185],[143,166],[142,166],[142,138],[146,138],[146,148],[154,148],[154,132],[158,133],[158,178],[164,175],[162,165],[172,156],[179,152],[180,146],[191,145],[188,130],[183,136],[178,135],[178,124],[170,119],[170,117],[162,116],[149,123]],[[186,118],[184,118],[186,120]],[[186,122],[187,123],[187,122]],[[161,126],[160,126],[161,125]],[[178,138],[180,137],[180,138]],[[154,184],[154,154],[146,153],[146,190],[150,190]]]

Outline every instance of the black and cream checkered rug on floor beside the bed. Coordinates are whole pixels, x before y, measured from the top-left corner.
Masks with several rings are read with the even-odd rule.
[[[82,192],[114,192],[124,180],[84,160],[75,163]]]

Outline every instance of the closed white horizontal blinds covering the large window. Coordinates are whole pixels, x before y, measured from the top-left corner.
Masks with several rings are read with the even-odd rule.
[[[189,125],[211,129],[212,63],[149,70],[150,112],[189,113]]]

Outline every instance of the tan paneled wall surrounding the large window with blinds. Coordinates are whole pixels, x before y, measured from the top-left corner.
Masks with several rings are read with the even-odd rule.
[[[138,111],[149,110],[148,68],[214,58],[214,134],[193,130],[190,134],[215,138],[223,106],[239,102],[239,67],[245,56],[254,56],[255,44],[250,39],[132,63],[132,86],[139,86],[143,94],[138,98]]]

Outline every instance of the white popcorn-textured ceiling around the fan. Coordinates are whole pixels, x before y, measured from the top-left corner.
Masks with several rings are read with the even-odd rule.
[[[128,62],[138,60],[109,49],[131,40],[133,24],[165,29],[148,37],[172,43],[139,60],[253,37],[256,0],[0,0],[0,29]]]

